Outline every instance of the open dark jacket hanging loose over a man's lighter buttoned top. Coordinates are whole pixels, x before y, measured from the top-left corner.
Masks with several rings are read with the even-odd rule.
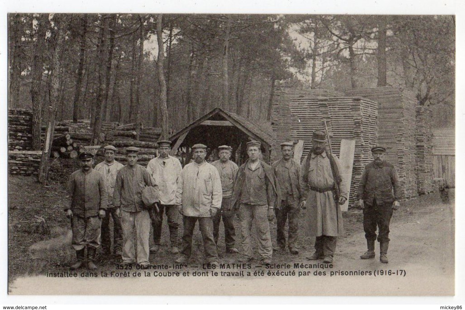
[[[246,162],[239,167],[239,171],[236,176],[236,180],[234,181],[234,189],[233,189],[233,196],[231,198],[231,206],[234,209],[239,209],[240,198],[242,194],[242,186],[246,180],[246,166],[249,160],[247,159]],[[268,207],[279,209],[281,205],[281,193],[279,191],[279,184],[276,176],[273,173],[273,168],[267,165],[265,162],[260,161],[260,165],[265,171],[265,179],[266,179],[266,187],[267,187],[267,200],[268,200]],[[270,186],[273,189],[270,191]]]

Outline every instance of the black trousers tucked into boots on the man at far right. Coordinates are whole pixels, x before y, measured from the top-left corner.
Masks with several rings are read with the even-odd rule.
[[[365,203],[363,209],[363,230],[366,240],[376,240],[378,226],[378,242],[389,242],[389,223],[392,217],[392,202],[377,204],[376,199],[370,206]]]

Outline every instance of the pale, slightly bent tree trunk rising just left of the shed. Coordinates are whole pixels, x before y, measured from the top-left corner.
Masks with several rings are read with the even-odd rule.
[[[162,29],[163,14],[158,14],[157,17],[157,42],[158,42],[158,59],[157,72],[160,85],[160,111],[161,111],[161,139],[168,138],[168,108],[166,106],[166,81],[163,72],[163,62],[165,61],[165,51],[163,49],[163,29]]]

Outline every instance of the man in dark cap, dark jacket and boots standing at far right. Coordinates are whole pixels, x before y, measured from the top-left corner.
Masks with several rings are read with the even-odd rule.
[[[361,259],[375,257],[378,226],[379,261],[388,263],[389,222],[392,210],[399,209],[401,198],[399,176],[394,166],[384,160],[386,149],[372,148],[373,161],[365,166],[359,185],[359,206],[363,209],[363,230],[368,250]],[[392,195],[394,189],[394,195]]]

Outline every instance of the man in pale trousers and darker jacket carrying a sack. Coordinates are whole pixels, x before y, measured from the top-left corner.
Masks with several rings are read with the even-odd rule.
[[[147,169],[137,164],[139,148],[126,148],[127,165],[116,175],[113,205],[123,229],[123,263],[135,263],[134,228],[137,232],[137,263],[149,265],[150,215],[142,201],[142,190],[153,186]]]

